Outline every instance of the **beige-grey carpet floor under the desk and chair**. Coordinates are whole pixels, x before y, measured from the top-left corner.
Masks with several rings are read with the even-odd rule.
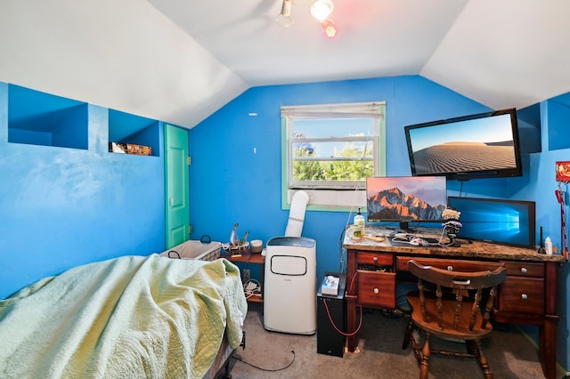
[[[261,305],[249,304],[244,323],[246,347],[230,360],[232,379],[246,378],[414,378],[419,366],[411,350],[402,349],[406,318],[388,318],[378,310],[364,310],[358,333],[359,353],[344,357],[317,353],[317,335],[290,335],[265,330]],[[423,340],[421,340],[423,341]],[[438,344],[439,343],[439,344]],[[434,347],[460,343],[434,339]],[[294,351],[294,353],[292,352]],[[544,377],[538,351],[514,326],[495,327],[483,342],[495,378]],[[247,362],[247,363],[244,363]],[[482,378],[475,359],[432,355],[429,378]]]

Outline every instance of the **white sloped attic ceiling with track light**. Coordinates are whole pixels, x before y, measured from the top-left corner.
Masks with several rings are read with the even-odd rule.
[[[421,75],[493,109],[570,91],[567,0],[3,0],[0,81],[193,127],[249,87]]]

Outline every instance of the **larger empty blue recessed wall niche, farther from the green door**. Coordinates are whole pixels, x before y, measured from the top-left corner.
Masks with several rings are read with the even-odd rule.
[[[8,85],[8,142],[88,149],[88,104]]]

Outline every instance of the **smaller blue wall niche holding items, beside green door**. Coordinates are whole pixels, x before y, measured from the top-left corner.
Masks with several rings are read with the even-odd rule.
[[[109,109],[109,142],[110,152],[120,152],[117,145],[126,148],[128,144],[139,147],[131,154],[159,157],[159,121]],[[150,154],[146,148],[151,149]]]

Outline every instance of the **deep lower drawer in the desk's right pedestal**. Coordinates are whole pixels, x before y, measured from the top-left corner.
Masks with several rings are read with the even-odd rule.
[[[497,310],[544,314],[544,281],[540,278],[507,277],[499,286]]]

